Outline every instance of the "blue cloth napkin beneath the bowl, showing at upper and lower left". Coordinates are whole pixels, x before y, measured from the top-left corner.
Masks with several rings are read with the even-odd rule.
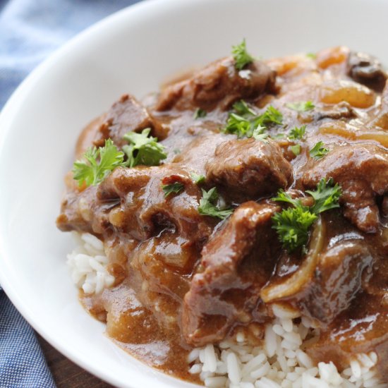
[[[51,52],[136,0],[0,0],[0,109]],[[65,274],[66,276],[66,274]],[[0,287],[0,388],[55,387],[34,331]]]

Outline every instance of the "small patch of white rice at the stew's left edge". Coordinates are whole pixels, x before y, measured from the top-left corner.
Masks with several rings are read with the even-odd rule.
[[[85,293],[100,293],[114,284],[114,277],[107,271],[108,258],[104,244],[96,236],[73,232],[76,248],[67,255],[71,277]]]

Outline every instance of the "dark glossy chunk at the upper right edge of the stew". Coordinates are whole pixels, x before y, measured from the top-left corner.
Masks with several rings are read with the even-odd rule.
[[[382,68],[380,61],[374,56],[361,52],[351,52],[348,56],[348,75],[358,83],[362,83],[377,92],[381,92],[387,73]]]

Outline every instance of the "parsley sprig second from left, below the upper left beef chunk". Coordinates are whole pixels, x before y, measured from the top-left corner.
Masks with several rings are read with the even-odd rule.
[[[124,135],[124,140],[130,143],[123,146],[123,151],[128,156],[127,166],[157,166],[162,159],[166,159],[164,146],[157,143],[157,138],[148,137],[150,131],[151,128],[145,128],[142,133],[128,132]]]

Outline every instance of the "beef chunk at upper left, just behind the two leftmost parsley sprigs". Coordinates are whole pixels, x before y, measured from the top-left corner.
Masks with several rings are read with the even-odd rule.
[[[138,132],[144,128],[154,128],[147,109],[135,97],[123,95],[115,102],[104,117],[104,122],[99,126],[100,137],[95,140],[95,145],[102,147],[104,140],[111,138],[119,147],[126,145],[123,136],[128,132]]]

